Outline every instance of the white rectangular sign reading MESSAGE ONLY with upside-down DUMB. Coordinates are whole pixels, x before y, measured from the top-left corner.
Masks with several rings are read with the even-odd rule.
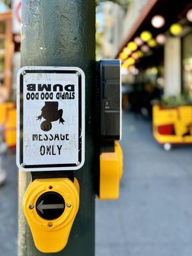
[[[23,67],[17,74],[17,166],[77,170],[84,164],[84,72]]]

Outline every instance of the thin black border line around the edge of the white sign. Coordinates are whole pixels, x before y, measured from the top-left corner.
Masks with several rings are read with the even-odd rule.
[[[56,74],[77,74],[78,70],[22,70],[22,73],[56,73]],[[23,97],[23,75],[20,73],[20,131],[19,131],[19,162],[20,165],[23,163],[23,105],[24,105],[24,97]],[[78,161],[81,164],[82,161],[82,76],[79,75],[78,79],[78,91],[79,91],[79,145],[78,145]],[[62,168],[62,167],[77,167],[77,164],[38,164],[38,165],[25,165],[25,169],[29,168]]]

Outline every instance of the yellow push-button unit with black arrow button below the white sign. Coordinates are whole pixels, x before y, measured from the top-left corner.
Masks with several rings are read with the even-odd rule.
[[[65,248],[78,209],[77,179],[36,179],[29,184],[23,210],[40,252],[54,253]]]

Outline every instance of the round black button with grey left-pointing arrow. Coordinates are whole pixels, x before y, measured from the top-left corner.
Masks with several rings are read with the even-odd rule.
[[[65,200],[56,192],[46,192],[36,201],[36,212],[44,220],[56,220],[65,211]]]

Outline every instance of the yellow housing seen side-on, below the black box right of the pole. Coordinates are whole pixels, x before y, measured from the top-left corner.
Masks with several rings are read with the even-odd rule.
[[[115,142],[115,152],[100,155],[99,199],[117,199],[123,173],[122,148]]]

